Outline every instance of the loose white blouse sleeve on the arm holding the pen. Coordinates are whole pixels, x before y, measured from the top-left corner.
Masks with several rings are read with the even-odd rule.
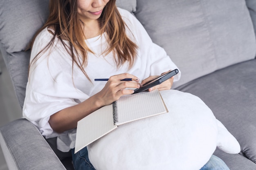
[[[36,38],[31,50],[31,61],[50,38],[45,31]],[[48,49],[41,53],[38,60],[34,60],[29,71],[23,117],[35,124],[46,137],[55,133],[48,123],[51,115],[88,98],[75,88],[72,65],[61,60],[62,55],[61,50]]]

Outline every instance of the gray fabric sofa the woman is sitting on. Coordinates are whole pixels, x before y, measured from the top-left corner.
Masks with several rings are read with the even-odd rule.
[[[0,1],[0,51],[21,107],[25,49],[47,18],[48,2]],[[180,68],[173,88],[200,97],[240,143],[240,154],[214,155],[231,170],[256,170],[256,0],[117,0],[117,6],[134,13]],[[46,141],[26,119],[0,128],[10,170],[72,170],[70,152],[56,150],[55,140]]]

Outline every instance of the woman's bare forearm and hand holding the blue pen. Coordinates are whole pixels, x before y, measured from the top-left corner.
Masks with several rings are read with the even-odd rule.
[[[121,79],[125,78],[132,78],[134,81],[121,81]],[[122,95],[134,93],[133,90],[126,88],[139,87],[139,79],[134,75],[128,73],[113,75],[99,93],[89,97],[80,104],[64,108],[54,113],[49,119],[49,124],[58,133],[76,128],[77,121],[83,119],[83,117],[90,115],[102,106],[111,104]]]

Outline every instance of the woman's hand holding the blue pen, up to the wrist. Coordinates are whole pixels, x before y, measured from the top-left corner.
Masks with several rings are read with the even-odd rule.
[[[134,81],[121,81],[121,79],[126,78],[131,78]],[[104,88],[96,94],[99,99],[98,102],[101,106],[109,105],[123,95],[130,95],[134,93],[133,90],[126,88],[139,88],[140,85],[138,77],[129,73],[113,75],[108,79]]]

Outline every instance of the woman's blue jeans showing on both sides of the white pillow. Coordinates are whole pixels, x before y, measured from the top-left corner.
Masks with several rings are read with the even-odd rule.
[[[92,163],[90,163],[86,147],[76,154],[74,154],[74,149],[72,149],[71,152],[75,170],[95,170]],[[229,170],[229,168],[224,161],[212,155],[210,160],[200,170]]]

